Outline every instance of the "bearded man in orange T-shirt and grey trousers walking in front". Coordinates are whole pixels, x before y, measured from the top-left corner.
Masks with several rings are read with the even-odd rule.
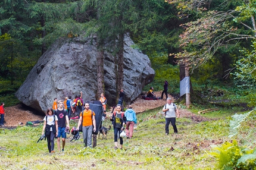
[[[82,124],[83,142],[85,143],[85,147],[92,147],[92,130],[93,132],[96,131],[95,113],[89,109],[90,106],[88,102],[83,106],[85,107],[85,110],[80,113],[77,130],[79,130],[79,127]]]

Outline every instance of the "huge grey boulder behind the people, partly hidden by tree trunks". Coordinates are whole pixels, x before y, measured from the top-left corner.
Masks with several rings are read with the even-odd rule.
[[[148,56],[133,49],[134,43],[126,37],[124,45],[125,102],[130,103],[141,94],[143,87],[154,79]],[[54,98],[79,95],[83,100],[95,100],[97,90],[95,39],[59,39],[38,60],[20,89],[18,100],[39,112],[52,107]],[[114,56],[104,52],[105,96],[108,105],[115,105]],[[98,100],[98,99],[96,99]]]

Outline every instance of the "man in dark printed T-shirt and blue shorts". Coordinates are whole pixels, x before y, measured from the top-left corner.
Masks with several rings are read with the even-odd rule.
[[[65,138],[67,138],[67,129],[69,129],[69,119],[68,119],[68,114],[67,111],[63,108],[63,100],[58,101],[58,109],[55,111],[55,115],[58,117],[58,136],[57,136],[57,146],[59,152],[62,150],[64,151],[65,147]],[[67,122],[67,127],[66,127],[66,122]],[[63,147],[61,149],[61,143],[60,143],[60,137],[63,141]]]

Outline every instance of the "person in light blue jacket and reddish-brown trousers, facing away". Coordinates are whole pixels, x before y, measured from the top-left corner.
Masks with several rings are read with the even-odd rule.
[[[132,105],[128,106],[128,109],[124,112],[124,117],[126,117],[126,137],[132,138],[133,127],[137,124],[136,113],[132,109]]]

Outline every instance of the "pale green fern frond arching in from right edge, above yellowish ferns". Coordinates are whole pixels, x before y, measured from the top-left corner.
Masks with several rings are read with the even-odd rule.
[[[251,115],[251,113],[253,111],[256,111],[256,108],[254,108],[252,111],[249,111],[245,114],[235,114],[232,116],[232,120],[230,120],[229,122],[229,137],[233,137],[236,136],[238,134],[238,129],[241,125],[242,122],[246,121],[246,119],[248,118],[249,115]]]

